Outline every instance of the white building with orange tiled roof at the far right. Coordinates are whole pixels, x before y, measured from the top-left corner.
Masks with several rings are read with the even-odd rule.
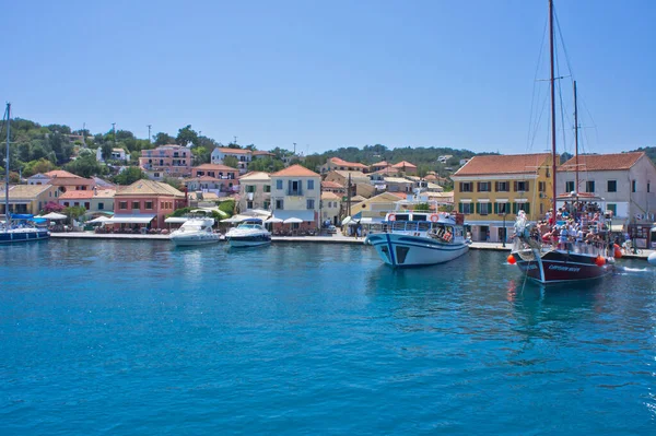
[[[576,190],[576,157],[558,169],[560,193]],[[656,214],[656,166],[643,152],[578,156],[578,192],[606,201],[606,210],[623,223],[654,222]]]

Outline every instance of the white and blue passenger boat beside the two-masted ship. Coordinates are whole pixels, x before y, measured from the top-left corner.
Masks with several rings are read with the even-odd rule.
[[[390,212],[382,233],[367,235],[383,261],[391,267],[418,267],[448,262],[465,255],[471,241],[465,237],[465,215],[426,211]]]

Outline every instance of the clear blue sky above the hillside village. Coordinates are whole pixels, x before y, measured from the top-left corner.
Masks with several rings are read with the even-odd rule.
[[[149,123],[174,135],[190,123],[223,143],[311,153],[548,144],[546,123],[527,141],[547,0],[0,5],[0,98],[42,123],[116,122],[139,138]],[[655,145],[656,1],[560,0],[557,11],[593,117],[583,122],[597,126],[590,151]]]

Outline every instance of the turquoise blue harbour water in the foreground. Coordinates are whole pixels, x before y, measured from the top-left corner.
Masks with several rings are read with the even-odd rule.
[[[0,434],[654,434],[655,269],[543,290],[505,257],[0,247]]]

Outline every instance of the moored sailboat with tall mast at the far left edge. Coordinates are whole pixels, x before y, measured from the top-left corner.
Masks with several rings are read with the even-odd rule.
[[[7,104],[7,168],[9,166],[9,142],[11,137],[11,103]],[[4,222],[0,226],[0,244],[27,243],[50,238],[47,228],[35,225],[34,215],[12,214],[9,212],[9,170],[4,172]]]

